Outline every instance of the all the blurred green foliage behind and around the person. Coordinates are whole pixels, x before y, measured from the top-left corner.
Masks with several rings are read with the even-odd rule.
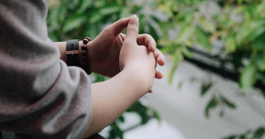
[[[139,33],[153,36],[161,51],[172,59],[169,83],[184,57],[193,58],[189,47],[196,46],[211,52],[213,43],[218,41],[223,43],[223,47],[215,57],[220,62],[231,63],[233,70],[240,73],[238,83],[243,92],[249,92],[257,80],[265,85],[265,0],[47,1],[49,37],[53,41],[84,36],[94,39],[108,24],[137,14]],[[104,79],[96,75],[96,81]],[[203,83],[201,96],[212,86],[212,83]],[[214,93],[206,105],[205,115],[209,116],[209,111],[217,106],[236,107],[221,93]],[[136,111],[142,117],[142,123],[148,121],[148,116],[157,115],[150,115],[149,108],[139,101],[128,111]],[[117,120],[123,121],[124,118]],[[111,128],[110,138],[122,138],[116,122]]]

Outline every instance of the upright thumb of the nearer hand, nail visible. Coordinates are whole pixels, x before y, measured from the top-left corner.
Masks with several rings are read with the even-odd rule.
[[[139,32],[139,19],[136,16],[131,17],[126,29],[126,38],[136,42]]]

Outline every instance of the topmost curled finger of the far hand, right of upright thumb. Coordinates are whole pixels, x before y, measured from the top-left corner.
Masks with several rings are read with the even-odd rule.
[[[137,37],[137,44],[138,45],[145,45],[148,47],[150,52],[154,52],[156,48],[156,42],[154,38],[149,34],[140,34]]]

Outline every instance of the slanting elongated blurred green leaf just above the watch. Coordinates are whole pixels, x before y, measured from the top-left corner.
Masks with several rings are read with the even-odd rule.
[[[86,21],[86,16],[72,16],[65,22],[63,32],[71,31],[75,28],[78,28],[81,24],[83,24]]]

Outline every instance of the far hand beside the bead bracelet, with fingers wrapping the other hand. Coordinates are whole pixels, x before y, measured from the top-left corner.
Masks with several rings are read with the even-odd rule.
[[[125,34],[121,32],[127,27],[131,17],[122,18],[109,25],[93,41],[87,44],[88,61],[92,72],[107,77],[113,77],[120,72],[119,53],[125,40]],[[154,58],[159,65],[163,66],[165,64],[165,57],[155,48],[156,43],[152,36],[148,34],[138,35],[137,43],[138,45],[146,45],[149,51],[154,52]],[[161,71],[156,70],[156,72],[156,78],[163,77]]]

